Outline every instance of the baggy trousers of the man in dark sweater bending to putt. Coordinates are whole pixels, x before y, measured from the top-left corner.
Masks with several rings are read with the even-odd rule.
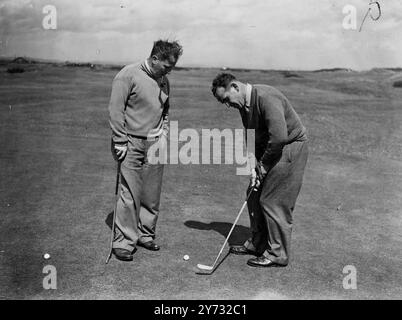
[[[280,265],[289,262],[292,214],[307,157],[307,141],[286,145],[280,161],[268,172],[262,188],[253,192],[248,201],[252,236],[245,246]]]

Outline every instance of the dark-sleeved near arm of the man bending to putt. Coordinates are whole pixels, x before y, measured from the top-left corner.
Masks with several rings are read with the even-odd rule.
[[[260,99],[261,114],[268,128],[268,143],[257,165],[262,177],[279,162],[282,150],[288,141],[288,130],[282,101],[276,97]]]

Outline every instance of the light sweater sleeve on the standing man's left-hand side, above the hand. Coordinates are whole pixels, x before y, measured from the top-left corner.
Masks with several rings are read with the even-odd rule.
[[[125,110],[131,84],[128,78],[115,78],[109,102],[109,124],[112,129],[112,139],[115,144],[126,144]]]

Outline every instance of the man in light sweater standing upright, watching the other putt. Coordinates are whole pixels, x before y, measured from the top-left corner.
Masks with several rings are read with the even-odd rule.
[[[166,75],[182,55],[181,45],[158,40],[142,63],[124,67],[114,78],[109,103],[112,152],[121,162],[113,254],[133,260],[136,246],[157,251],[154,242],[163,164],[148,150],[166,146],[169,131],[169,81]]]

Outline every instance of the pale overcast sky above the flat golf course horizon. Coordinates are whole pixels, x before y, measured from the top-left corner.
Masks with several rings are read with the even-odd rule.
[[[184,48],[178,65],[263,69],[402,67],[402,0],[380,0],[382,17],[357,27],[369,0],[0,0],[0,55],[127,63],[159,38]],[[57,29],[45,30],[45,5]],[[377,10],[373,8],[373,15]]]

